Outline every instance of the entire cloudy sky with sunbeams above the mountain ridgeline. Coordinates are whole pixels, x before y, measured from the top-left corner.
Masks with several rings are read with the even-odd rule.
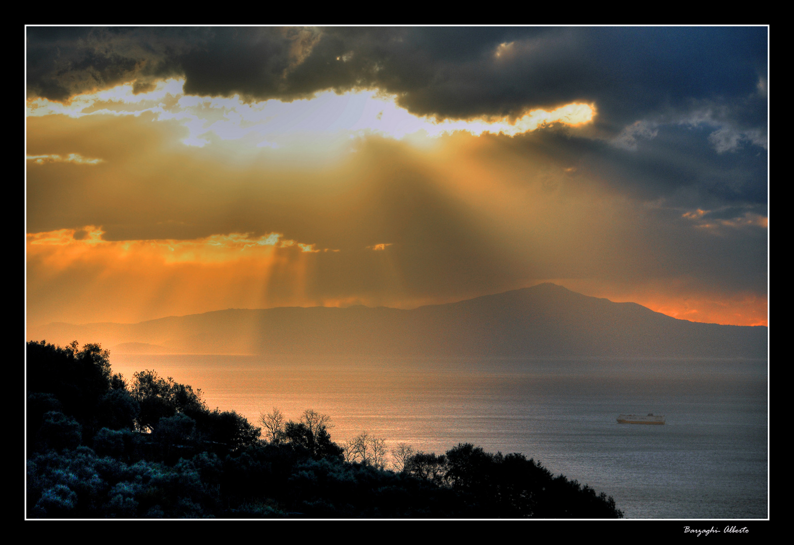
[[[27,323],[555,282],[766,325],[768,35],[29,26]]]

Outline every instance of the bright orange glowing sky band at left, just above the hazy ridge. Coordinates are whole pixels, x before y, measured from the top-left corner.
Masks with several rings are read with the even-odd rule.
[[[87,226],[28,235],[29,323],[40,319],[32,309],[48,314],[53,289],[60,312],[80,321],[323,302],[306,294],[313,265],[302,257],[319,250],[279,233],[121,241],[102,234]]]

